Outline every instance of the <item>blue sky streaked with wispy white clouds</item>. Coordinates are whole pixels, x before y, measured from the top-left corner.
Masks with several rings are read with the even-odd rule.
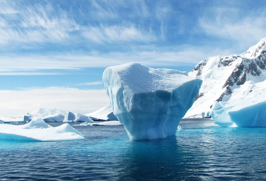
[[[109,104],[106,67],[190,71],[266,37],[266,1],[0,0],[0,117]]]

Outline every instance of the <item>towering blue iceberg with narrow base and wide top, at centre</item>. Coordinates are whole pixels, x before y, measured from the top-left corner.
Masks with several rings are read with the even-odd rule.
[[[202,83],[187,72],[139,63],[108,67],[103,81],[114,115],[131,140],[175,135]]]

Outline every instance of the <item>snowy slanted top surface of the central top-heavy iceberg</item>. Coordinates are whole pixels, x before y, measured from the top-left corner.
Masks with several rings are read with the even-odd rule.
[[[157,90],[171,92],[184,82],[191,80],[186,76],[187,72],[173,69],[153,69],[139,63],[108,67],[104,74],[108,72],[116,72],[121,81],[127,82],[128,88],[135,94]]]

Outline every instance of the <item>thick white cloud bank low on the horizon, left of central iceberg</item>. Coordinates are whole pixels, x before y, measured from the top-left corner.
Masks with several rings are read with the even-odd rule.
[[[67,87],[27,88],[0,91],[0,117],[17,116],[38,108],[57,108],[87,114],[109,103],[106,90]]]

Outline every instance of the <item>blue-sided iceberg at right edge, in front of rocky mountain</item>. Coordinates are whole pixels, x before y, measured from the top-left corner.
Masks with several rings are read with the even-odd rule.
[[[266,127],[266,80],[247,81],[232,93],[233,99],[215,102],[211,119],[222,127]]]

